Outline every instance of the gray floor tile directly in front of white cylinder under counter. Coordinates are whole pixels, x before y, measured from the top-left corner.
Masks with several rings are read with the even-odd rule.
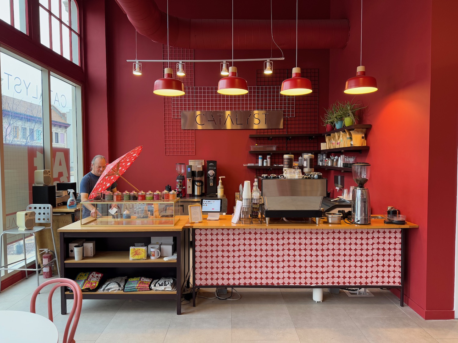
[[[335,301],[287,302],[286,305],[301,343],[368,342]]]

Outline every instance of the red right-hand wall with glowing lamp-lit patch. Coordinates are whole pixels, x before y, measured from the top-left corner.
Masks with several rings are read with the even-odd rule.
[[[369,105],[364,123],[372,124],[370,151],[361,155],[372,165],[367,182],[372,213],[392,205],[420,225],[408,232],[406,302],[427,319],[448,319],[453,318],[457,116],[451,107],[454,87],[447,82],[447,96],[443,83],[454,79],[457,67],[456,44],[443,42],[450,38],[444,32],[456,24],[443,15],[456,13],[457,5],[448,1],[437,7],[431,19],[431,0],[364,3],[362,64],[376,77],[379,91],[356,99]],[[334,102],[353,97],[343,89],[360,64],[360,3],[332,1],[331,8],[332,18],[351,23],[347,48],[330,54],[329,101]],[[444,128],[444,122],[451,125]],[[449,149],[442,148],[446,145]],[[351,184],[347,176],[346,185]]]

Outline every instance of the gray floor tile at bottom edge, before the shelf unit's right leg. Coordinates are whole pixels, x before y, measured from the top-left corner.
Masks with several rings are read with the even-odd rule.
[[[231,343],[230,318],[185,318],[170,322],[164,343]],[[97,342],[98,343],[98,342]]]

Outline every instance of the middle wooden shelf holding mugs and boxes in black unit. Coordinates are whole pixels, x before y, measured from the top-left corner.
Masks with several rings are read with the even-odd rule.
[[[134,263],[134,264],[155,264],[155,263],[175,263],[176,260],[164,261],[164,257],[159,257],[155,260],[147,257],[146,260],[129,260],[128,251],[101,251],[96,252],[94,257],[83,257],[81,261],[75,261],[74,257],[66,258],[64,261],[69,267],[74,267],[73,264],[105,264],[105,263]],[[132,266],[133,267],[133,266]],[[146,267],[146,266],[145,266]],[[158,266],[156,266],[158,267]]]

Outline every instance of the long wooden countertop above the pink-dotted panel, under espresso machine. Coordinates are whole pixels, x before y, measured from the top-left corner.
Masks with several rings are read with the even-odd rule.
[[[231,222],[232,215],[220,215],[219,220],[207,220],[207,216],[204,215],[202,223],[190,224],[186,222],[186,227],[197,228],[197,229],[227,229],[227,228],[249,228],[249,229],[393,229],[393,228],[417,228],[418,225],[407,222],[405,225],[398,224],[385,224],[383,219],[372,219],[371,224],[358,225],[358,224],[347,224],[343,220],[341,224],[328,224],[326,220],[322,219],[319,225],[316,225],[315,219],[312,219],[312,223],[304,222],[285,222],[284,220],[270,220],[270,224],[267,225],[265,220],[262,220],[262,224],[234,224]]]

